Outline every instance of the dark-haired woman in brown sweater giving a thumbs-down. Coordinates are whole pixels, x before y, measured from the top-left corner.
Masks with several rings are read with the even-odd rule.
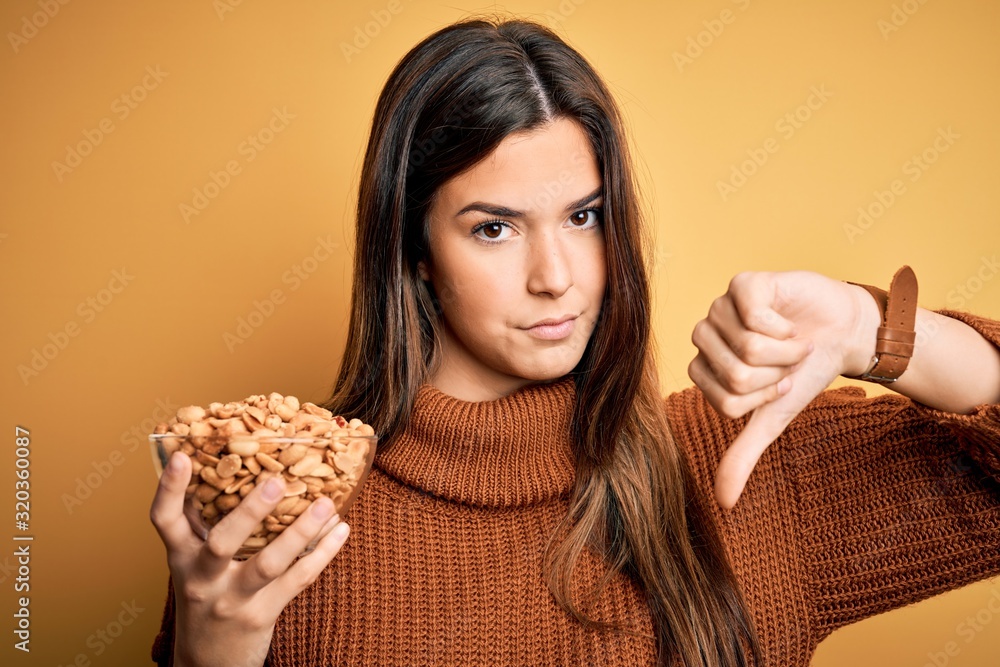
[[[381,436],[351,539],[318,500],[233,561],[280,482],[202,543],[175,456],[154,659],[807,665],[840,626],[1000,573],[1000,323],[916,310],[900,275],[888,306],[737,276],[694,331],[697,387],[664,400],[606,87],[532,23],[431,35],[386,83],[361,176],[327,405]],[[823,391],[903,366],[909,399]]]

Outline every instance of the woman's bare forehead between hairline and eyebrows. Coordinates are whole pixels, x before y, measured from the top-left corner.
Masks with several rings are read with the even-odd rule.
[[[441,186],[441,212],[455,215],[470,201],[527,213],[562,209],[601,185],[590,140],[574,120],[559,118],[505,138],[471,169]]]

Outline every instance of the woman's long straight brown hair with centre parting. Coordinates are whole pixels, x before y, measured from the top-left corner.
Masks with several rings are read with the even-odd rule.
[[[556,117],[577,121],[597,157],[608,275],[601,316],[573,372],[576,483],[546,552],[549,588],[581,623],[600,625],[571,594],[580,556],[593,549],[609,577],[624,573],[645,591],[660,664],[761,664],[752,619],[664,416],[647,244],[620,114],[589,63],[547,28],[456,23],[389,76],[361,173],[347,349],[326,405],[362,417],[381,434],[380,447],[392,446],[435,360],[438,300],[447,298],[417,271],[431,199],[509,134]]]

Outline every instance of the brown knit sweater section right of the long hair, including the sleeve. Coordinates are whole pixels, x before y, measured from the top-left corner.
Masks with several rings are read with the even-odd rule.
[[[1000,322],[941,314],[1000,346]],[[665,407],[711,499],[747,416],[720,416],[695,387]],[[808,664],[839,627],[1000,575],[1000,405],[962,415],[825,391],[764,452],[732,510],[709,506],[767,664]]]

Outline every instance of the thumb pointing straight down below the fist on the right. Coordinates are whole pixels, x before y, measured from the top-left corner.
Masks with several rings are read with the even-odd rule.
[[[796,398],[789,392],[754,410],[723,454],[715,473],[715,498],[721,507],[731,509],[736,504],[760,457],[802,410]]]

